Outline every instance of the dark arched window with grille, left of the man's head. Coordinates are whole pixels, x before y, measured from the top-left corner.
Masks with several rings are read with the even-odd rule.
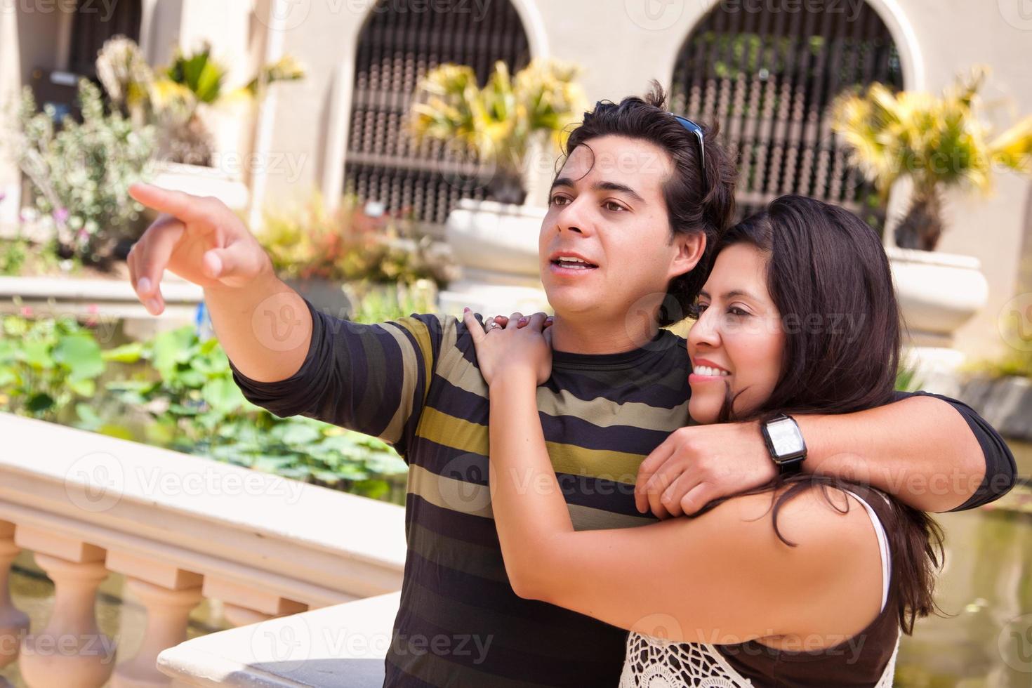
[[[440,5],[441,3],[437,3]],[[362,29],[355,65],[345,187],[362,200],[415,218],[434,232],[459,198],[485,198],[485,184],[452,182],[448,153],[439,144],[420,148],[404,123],[416,84],[446,62],[469,65],[481,86],[502,60],[510,70],[529,62],[526,33],[508,2],[451,3],[448,11],[416,11],[416,3],[380,0]],[[482,7],[480,5],[483,5]],[[464,173],[458,176],[464,177]]]

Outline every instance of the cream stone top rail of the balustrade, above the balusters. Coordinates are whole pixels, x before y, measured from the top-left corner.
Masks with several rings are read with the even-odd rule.
[[[399,590],[405,510],[0,413],[0,521],[310,608]]]

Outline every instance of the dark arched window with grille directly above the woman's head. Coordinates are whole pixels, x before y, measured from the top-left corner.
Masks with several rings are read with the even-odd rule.
[[[681,47],[672,109],[719,123],[722,140],[737,152],[743,215],[796,193],[879,226],[883,220],[871,186],[849,167],[831,130],[829,105],[872,81],[902,88],[900,56],[867,3],[841,4],[842,11],[813,12],[724,1]]]

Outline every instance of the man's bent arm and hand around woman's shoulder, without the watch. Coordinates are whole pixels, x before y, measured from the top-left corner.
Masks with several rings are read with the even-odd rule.
[[[853,414],[796,416],[804,470],[868,483],[928,512],[972,509],[1014,483],[1013,456],[967,405],[923,392]],[[694,514],[717,497],[766,484],[774,465],[755,422],[673,432],[642,463],[639,511]]]

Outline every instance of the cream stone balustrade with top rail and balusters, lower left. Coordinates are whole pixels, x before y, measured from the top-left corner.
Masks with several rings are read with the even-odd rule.
[[[172,685],[157,657],[205,597],[260,627],[400,588],[399,506],[3,413],[0,440],[0,667],[30,688]],[[55,585],[31,632],[7,589],[21,550]],[[131,657],[97,627],[111,571],[147,612]]]

